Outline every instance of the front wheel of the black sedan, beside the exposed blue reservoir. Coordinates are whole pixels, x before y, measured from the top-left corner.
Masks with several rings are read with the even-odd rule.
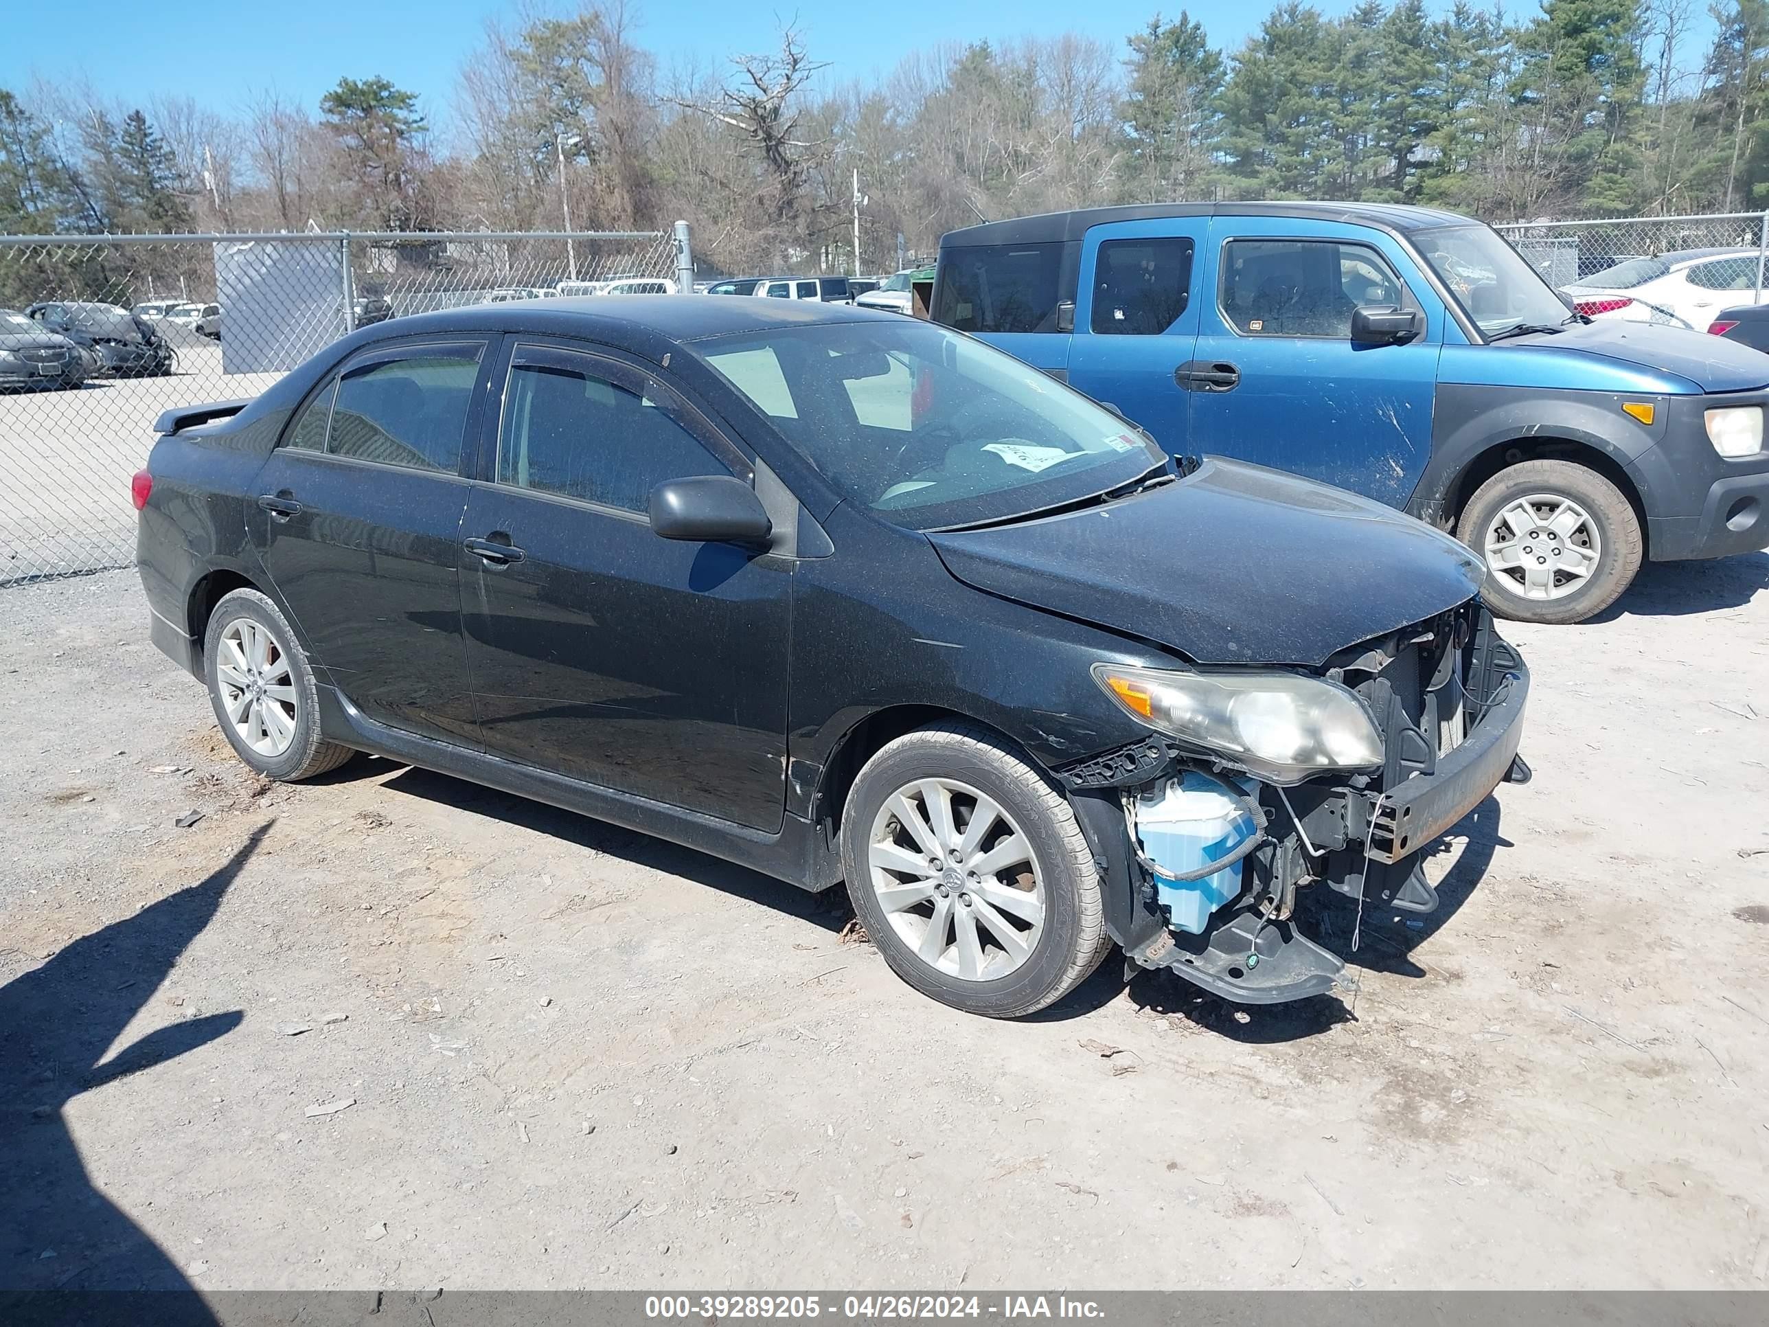
[[[1035,1014],[1111,947],[1068,800],[980,727],[916,729],[867,761],[842,814],[842,869],[892,971],[968,1014]]]

